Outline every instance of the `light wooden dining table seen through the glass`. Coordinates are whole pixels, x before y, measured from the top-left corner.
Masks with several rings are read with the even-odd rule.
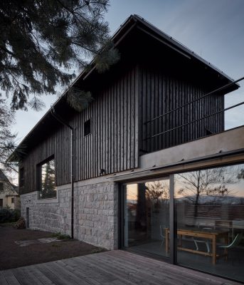
[[[179,250],[186,252],[192,252],[193,254],[203,254],[205,256],[212,257],[212,264],[216,264],[216,259],[220,255],[216,252],[216,241],[217,239],[223,238],[224,243],[228,244],[228,231],[221,231],[218,229],[198,229],[198,228],[180,228],[177,229],[177,235],[180,237],[181,244],[177,247]],[[196,249],[189,249],[182,247],[182,237],[193,237],[201,239],[209,239],[212,244],[212,252],[202,252]],[[169,228],[165,228],[165,250],[169,252]]]

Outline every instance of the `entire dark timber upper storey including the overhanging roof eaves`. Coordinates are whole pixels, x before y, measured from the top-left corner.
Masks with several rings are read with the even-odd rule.
[[[137,16],[130,17],[113,39],[120,43],[120,62],[103,75],[82,73],[75,83],[92,91],[89,107],[77,113],[65,95],[55,103],[57,113],[74,128],[75,181],[132,170],[139,167],[139,155],[224,130],[220,113],[157,135],[222,110],[224,93],[213,94],[147,123],[230,79]],[[91,133],[84,136],[87,120]],[[51,156],[56,185],[70,182],[70,130],[50,111],[22,143],[27,145],[27,154],[20,163],[25,181],[21,193],[37,190],[38,164]]]

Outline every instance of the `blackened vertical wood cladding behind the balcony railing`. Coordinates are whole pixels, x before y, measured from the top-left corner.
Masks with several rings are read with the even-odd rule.
[[[204,137],[209,134],[208,131],[211,133],[223,131],[224,115],[220,113],[150,138],[152,135],[190,123],[223,109],[223,95],[210,95],[203,100],[198,100],[164,117],[146,123],[159,115],[200,98],[209,91],[211,90],[206,86],[180,79],[178,76],[166,74],[155,68],[141,66],[139,68],[139,130],[142,137],[139,145],[140,154]]]

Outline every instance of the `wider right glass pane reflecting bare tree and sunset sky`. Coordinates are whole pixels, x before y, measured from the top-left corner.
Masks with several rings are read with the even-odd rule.
[[[174,175],[179,264],[244,281],[243,173],[232,165]]]

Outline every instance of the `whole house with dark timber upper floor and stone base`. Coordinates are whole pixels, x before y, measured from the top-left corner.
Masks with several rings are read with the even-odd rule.
[[[244,229],[244,127],[224,128],[238,81],[139,16],[112,39],[120,61],[73,83],[89,107],[66,91],[19,146],[26,224],[244,281],[243,243],[235,270],[219,253]]]

